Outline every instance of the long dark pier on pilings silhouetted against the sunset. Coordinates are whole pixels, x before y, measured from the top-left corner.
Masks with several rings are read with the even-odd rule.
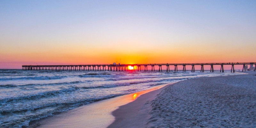
[[[246,71],[245,65],[254,65],[254,71],[256,70],[256,62],[245,63],[165,63],[165,64],[95,64],[95,65],[22,65],[22,70],[67,70],[67,71],[128,71],[128,67],[131,66],[132,70],[137,67],[138,71],[141,71],[141,66],[144,66],[144,71],[148,71],[148,66],[151,66],[151,71],[155,71],[155,66],[159,67],[158,71],[162,71],[162,66],[166,66],[166,71],[170,72],[170,66],[174,66],[174,71],[178,71],[178,66],[183,66],[183,72],[186,72],[186,65],[191,65],[191,72],[195,72],[195,66],[201,66],[200,72],[204,72],[204,66],[211,66],[210,72],[214,72],[213,66],[220,65],[220,72],[224,72],[224,65],[231,66],[231,72],[235,72],[234,65],[243,65],[243,70]],[[131,71],[131,70],[129,70]]]

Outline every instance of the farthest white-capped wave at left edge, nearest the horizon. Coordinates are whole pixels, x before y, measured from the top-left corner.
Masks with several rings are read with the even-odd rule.
[[[18,77],[18,78],[0,78],[0,80],[20,80],[20,79],[33,79],[33,80],[51,80],[61,79],[67,76],[31,76],[31,77]]]

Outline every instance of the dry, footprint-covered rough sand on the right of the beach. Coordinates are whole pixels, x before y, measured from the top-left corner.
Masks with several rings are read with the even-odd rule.
[[[256,72],[201,77],[168,86],[144,127],[256,127]]]

